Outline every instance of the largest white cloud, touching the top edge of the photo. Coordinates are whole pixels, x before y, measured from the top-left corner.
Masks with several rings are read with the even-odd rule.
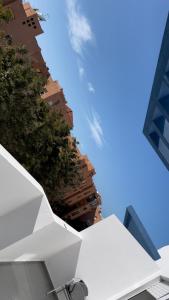
[[[77,0],[66,0],[69,36],[73,50],[82,56],[85,44],[93,40],[88,19],[79,11]]]

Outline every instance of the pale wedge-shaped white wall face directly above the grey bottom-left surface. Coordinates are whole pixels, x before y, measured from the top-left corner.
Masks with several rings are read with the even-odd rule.
[[[56,222],[43,227],[31,235],[17,241],[0,251],[2,261],[44,260],[56,255],[69,246],[80,242],[80,236],[75,235]]]

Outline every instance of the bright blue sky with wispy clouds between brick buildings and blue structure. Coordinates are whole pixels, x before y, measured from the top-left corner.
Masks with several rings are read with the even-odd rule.
[[[142,133],[169,1],[30,2],[47,15],[38,42],[95,166],[104,217],[123,220],[133,205],[155,245],[169,244],[169,172]]]

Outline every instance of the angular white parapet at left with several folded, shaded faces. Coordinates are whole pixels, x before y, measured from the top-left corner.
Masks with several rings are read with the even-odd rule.
[[[0,146],[0,261],[46,260],[81,242],[39,183]]]

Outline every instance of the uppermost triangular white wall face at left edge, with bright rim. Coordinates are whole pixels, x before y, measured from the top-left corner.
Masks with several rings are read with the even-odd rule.
[[[0,145],[0,216],[43,194],[39,183]]]

